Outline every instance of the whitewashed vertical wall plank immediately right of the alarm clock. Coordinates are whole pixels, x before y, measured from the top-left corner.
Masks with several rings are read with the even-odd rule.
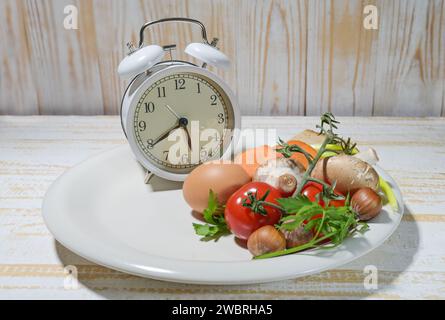
[[[243,114],[305,114],[306,1],[242,1],[236,17]]]

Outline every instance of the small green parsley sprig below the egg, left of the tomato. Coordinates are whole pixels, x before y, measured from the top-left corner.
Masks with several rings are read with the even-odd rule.
[[[230,230],[224,219],[224,205],[218,201],[218,197],[209,190],[209,200],[203,217],[206,224],[193,223],[195,233],[202,236],[201,241],[218,241],[222,236],[230,234]]]

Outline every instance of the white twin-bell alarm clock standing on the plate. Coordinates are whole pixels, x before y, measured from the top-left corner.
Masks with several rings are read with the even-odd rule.
[[[201,29],[202,42],[185,53],[202,65],[174,60],[176,45],[144,45],[145,30],[166,22],[191,23]],[[207,40],[205,26],[189,18],[146,23],[139,46],[127,44],[128,55],[118,73],[131,79],[121,103],[121,123],[136,159],[153,176],[183,181],[198,165],[231,156],[240,127],[238,104],[229,86],[208,65],[227,69],[230,61]],[[169,52],[170,59],[164,59]]]

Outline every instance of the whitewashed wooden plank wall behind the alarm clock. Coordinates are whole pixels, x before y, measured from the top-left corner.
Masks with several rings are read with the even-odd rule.
[[[63,27],[68,4],[78,30]],[[367,4],[379,30],[362,26]],[[220,38],[243,114],[445,115],[445,0],[0,0],[0,114],[117,114],[125,43],[170,16]],[[146,39],[199,35],[168,25]]]

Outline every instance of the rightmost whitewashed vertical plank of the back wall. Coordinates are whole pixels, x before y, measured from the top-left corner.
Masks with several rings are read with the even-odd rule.
[[[444,2],[380,1],[379,6],[373,114],[440,116],[445,83]]]

